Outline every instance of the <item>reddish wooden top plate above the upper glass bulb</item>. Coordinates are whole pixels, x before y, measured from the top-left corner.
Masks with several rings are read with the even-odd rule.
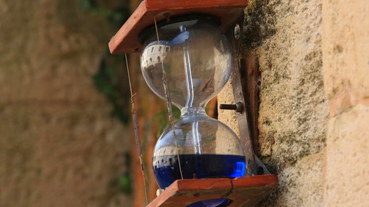
[[[111,38],[111,54],[141,52],[139,35],[156,22],[184,14],[212,15],[225,31],[247,6],[247,0],[144,0],[123,27]]]

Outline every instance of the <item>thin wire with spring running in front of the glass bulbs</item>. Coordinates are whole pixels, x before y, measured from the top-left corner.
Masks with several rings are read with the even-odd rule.
[[[155,22],[156,37],[158,38],[158,45],[159,45],[159,48],[160,48],[159,33],[158,33],[158,27],[156,25],[155,17],[154,17],[154,22]],[[163,51],[165,51],[165,50],[163,50]],[[163,55],[162,55],[161,51],[160,51],[160,56],[161,56],[160,60],[161,60],[161,66],[162,66],[162,71],[163,71],[163,79],[162,80],[163,80],[163,86],[164,86],[164,92],[165,92],[166,107],[168,108],[169,122],[170,122],[170,125],[172,126],[173,139],[174,139],[174,142],[176,144],[176,153],[177,153],[177,159],[178,159],[178,165],[179,165],[179,172],[181,174],[181,178],[183,179],[181,162],[180,162],[179,153],[178,153],[178,144],[177,144],[176,132],[175,132],[175,127],[174,127],[172,99],[170,98],[168,79],[166,78],[166,73],[165,73],[165,69],[164,69],[164,59],[163,59]]]

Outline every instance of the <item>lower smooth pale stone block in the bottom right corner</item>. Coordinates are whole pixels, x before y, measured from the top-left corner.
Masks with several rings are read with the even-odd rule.
[[[368,206],[369,107],[358,105],[329,122],[325,206]]]

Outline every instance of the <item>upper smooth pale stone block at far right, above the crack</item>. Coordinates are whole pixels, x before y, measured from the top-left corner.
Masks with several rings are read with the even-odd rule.
[[[358,99],[369,97],[369,1],[323,0],[322,14],[328,97],[333,99],[344,90],[351,90]]]

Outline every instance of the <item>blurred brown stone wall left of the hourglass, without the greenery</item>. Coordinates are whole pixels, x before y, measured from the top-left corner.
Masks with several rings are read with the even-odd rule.
[[[107,22],[75,0],[0,0],[0,31],[0,206],[130,206],[130,139],[92,79]]]

